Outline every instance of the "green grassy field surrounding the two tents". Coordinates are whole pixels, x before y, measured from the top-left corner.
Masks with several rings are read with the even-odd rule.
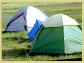
[[[81,3],[57,3],[57,2],[31,2],[31,3],[2,3],[2,14],[10,15],[16,13],[19,9],[25,6],[34,6],[42,10],[48,16],[53,14],[63,13],[72,18],[82,26],[82,5]],[[10,19],[6,18],[2,21],[2,32]],[[82,58],[82,54],[72,55],[29,55],[29,50],[32,41],[28,41],[27,31],[11,32],[2,34],[2,60],[66,60]]]

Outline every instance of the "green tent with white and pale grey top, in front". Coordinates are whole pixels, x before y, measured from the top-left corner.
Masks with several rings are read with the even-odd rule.
[[[50,16],[41,25],[30,53],[73,54],[82,52],[82,30],[64,14]]]

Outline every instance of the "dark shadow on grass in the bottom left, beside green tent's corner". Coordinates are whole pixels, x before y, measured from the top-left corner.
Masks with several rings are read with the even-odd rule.
[[[2,51],[2,58],[23,57],[28,54],[30,49],[9,49]]]

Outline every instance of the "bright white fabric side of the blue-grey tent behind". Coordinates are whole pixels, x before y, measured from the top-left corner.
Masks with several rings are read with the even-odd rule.
[[[34,7],[28,7],[27,16],[26,16],[28,27],[34,26],[36,22],[36,18],[38,20],[45,21],[47,16],[43,12],[41,12],[39,9],[36,9]]]

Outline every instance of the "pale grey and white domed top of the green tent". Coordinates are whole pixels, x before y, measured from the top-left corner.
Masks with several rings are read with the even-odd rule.
[[[56,26],[63,26],[63,25],[78,25],[78,23],[67,15],[56,14],[47,18],[43,23],[43,25],[45,27],[56,27]]]

